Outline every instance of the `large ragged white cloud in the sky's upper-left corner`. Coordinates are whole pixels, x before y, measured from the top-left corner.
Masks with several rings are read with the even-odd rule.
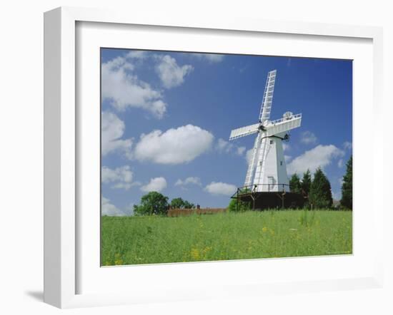
[[[126,110],[129,107],[143,108],[157,118],[162,118],[166,112],[162,94],[132,73],[134,65],[129,62],[129,56],[132,56],[130,54],[140,55],[138,51],[132,51],[124,57],[102,63],[102,97],[111,100],[111,105],[117,110]]]

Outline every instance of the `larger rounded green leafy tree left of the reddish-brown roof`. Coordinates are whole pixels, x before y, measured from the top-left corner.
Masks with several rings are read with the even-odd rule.
[[[134,213],[136,215],[166,215],[168,207],[168,197],[159,192],[149,192],[141,197],[141,205],[134,205]]]

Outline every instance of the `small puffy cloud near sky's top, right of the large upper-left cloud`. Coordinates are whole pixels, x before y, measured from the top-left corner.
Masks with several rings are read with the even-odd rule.
[[[169,55],[157,56],[159,63],[156,71],[165,88],[174,88],[180,86],[184,82],[184,77],[194,70],[191,65],[179,66],[176,59]]]

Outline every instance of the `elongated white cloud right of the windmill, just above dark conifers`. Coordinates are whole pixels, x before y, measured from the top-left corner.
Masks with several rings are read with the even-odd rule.
[[[289,174],[294,174],[295,172],[301,174],[308,169],[310,172],[314,172],[317,167],[323,169],[329,165],[334,158],[340,158],[343,155],[344,152],[334,145],[317,145],[315,148],[294,158],[292,162],[289,162],[287,170]]]

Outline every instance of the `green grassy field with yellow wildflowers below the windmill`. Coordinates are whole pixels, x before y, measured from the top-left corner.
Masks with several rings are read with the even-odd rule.
[[[352,253],[352,212],[102,217],[101,265]]]

